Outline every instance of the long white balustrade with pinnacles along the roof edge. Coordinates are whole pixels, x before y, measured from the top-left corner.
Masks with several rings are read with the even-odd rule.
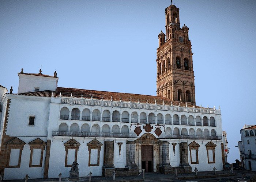
[[[133,103],[114,100],[97,100],[97,99],[78,99],[78,98],[60,98],[62,104],[79,104],[87,106],[108,106],[108,107],[122,107],[122,108],[137,108],[137,109],[150,109],[150,110],[162,110],[162,111],[182,111],[182,112],[196,112],[206,114],[221,114],[219,110],[211,108],[193,108],[193,107],[181,107],[173,105],[162,104],[148,104],[148,103]]]

